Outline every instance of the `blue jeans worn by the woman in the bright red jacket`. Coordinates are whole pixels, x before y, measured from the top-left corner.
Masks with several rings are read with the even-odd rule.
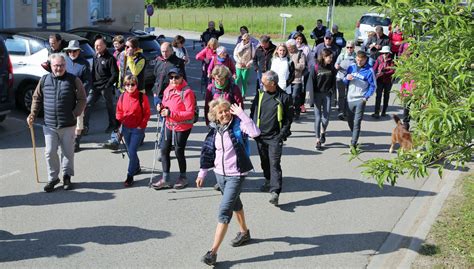
[[[128,149],[128,176],[135,175],[136,171],[140,167],[140,160],[138,159],[137,150],[145,137],[145,130],[137,128],[127,128],[122,126],[122,135],[125,140],[125,144]]]

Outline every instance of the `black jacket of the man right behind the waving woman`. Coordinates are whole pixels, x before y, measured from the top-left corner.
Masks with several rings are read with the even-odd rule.
[[[252,102],[252,107],[250,108],[250,118],[252,118],[254,122],[258,122],[259,92],[261,91],[257,91]],[[276,138],[280,141],[285,141],[291,135],[290,129],[294,113],[293,98],[279,87],[273,94],[264,91],[262,98],[260,125],[258,126],[261,133],[256,139]],[[277,119],[278,104],[281,104],[283,108],[281,128]]]

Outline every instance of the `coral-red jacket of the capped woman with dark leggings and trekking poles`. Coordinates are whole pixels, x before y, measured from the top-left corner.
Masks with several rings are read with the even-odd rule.
[[[168,108],[170,115],[166,117],[166,127],[174,129],[178,132],[183,132],[193,128],[192,123],[185,123],[194,119],[194,109],[196,106],[196,96],[192,89],[188,89],[183,93],[183,100],[181,100],[181,91],[188,83],[183,80],[183,83],[174,88],[173,85],[168,85],[163,93],[162,105]]]

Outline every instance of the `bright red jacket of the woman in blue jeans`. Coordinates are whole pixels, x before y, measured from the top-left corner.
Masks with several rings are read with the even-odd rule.
[[[146,128],[150,119],[150,103],[146,94],[142,96],[142,104],[140,106],[139,91],[129,93],[125,91],[120,95],[117,102],[117,111],[115,117],[120,123],[127,128]]]

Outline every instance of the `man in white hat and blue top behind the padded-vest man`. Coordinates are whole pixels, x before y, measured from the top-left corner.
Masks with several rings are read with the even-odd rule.
[[[81,55],[81,47],[79,46],[79,41],[71,40],[69,41],[69,45],[64,49],[67,53],[66,57],[66,71],[68,73],[73,74],[74,76],[78,77],[82,85],[84,85],[84,89],[86,92],[89,92],[91,87],[92,76],[90,72],[90,64],[89,62],[82,57]],[[84,129],[84,112],[81,113],[80,116],[77,117],[77,125],[76,125],[76,138],[74,140],[74,152],[78,152],[80,150],[80,142],[81,142],[81,135],[82,130]]]

